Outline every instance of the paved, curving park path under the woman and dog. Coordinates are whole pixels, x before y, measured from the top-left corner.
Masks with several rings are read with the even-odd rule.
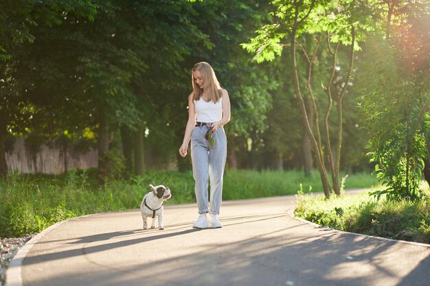
[[[223,202],[224,227],[195,230],[195,204],[168,205],[165,230],[138,210],[69,219],[30,240],[9,286],[430,285],[430,247],[291,217],[294,196]]]

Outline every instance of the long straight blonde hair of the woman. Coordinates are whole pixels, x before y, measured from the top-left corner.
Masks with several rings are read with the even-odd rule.
[[[193,100],[199,100],[203,94],[203,89],[194,81],[194,71],[200,72],[205,85],[205,93],[207,94],[207,97],[209,97],[209,100],[212,102],[218,102],[218,100],[223,97],[223,93],[221,92],[222,87],[216,79],[214,69],[212,69],[210,64],[207,62],[198,62],[194,64],[194,67],[192,68],[192,93],[190,94],[190,97],[192,97]]]

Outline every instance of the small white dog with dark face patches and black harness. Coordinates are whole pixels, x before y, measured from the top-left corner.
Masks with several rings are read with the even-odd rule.
[[[155,217],[158,217],[158,228],[163,230],[163,202],[172,197],[170,189],[164,187],[162,184],[159,186],[149,185],[152,189],[149,193],[144,195],[144,199],[140,204],[140,212],[142,213],[142,219],[144,220],[144,229],[148,229],[146,220],[148,217],[152,217],[151,228],[155,228]]]

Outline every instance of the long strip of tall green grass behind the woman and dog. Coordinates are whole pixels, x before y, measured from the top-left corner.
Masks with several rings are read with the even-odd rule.
[[[173,196],[166,204],[195,202],[192,172],[147,171],[144,177],[98,184],[96,170],[71,170],[61,176],[10,174],[0,179],[0,237],[41,232],[70,217],[139,208],[148,184],[165,182]],[[357,178],[357,179],[355,179]],[[346,188],[370,187],[376,179],[357,174]],[[233,171],[224,176],[223,199],[238,200],[295,194],[299,189],[321,191],[319,174],[302,171]]]

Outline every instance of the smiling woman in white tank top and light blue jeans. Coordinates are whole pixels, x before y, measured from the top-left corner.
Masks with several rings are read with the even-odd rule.
[[[230,121],[230,99],[207,62],[194,64],[192,93],[188,97],[188,123],[179,154],[187,156],[191,140],[192,173],[199,219],[193,228],[220,228],[217,216],[223,195],[227,138],[223,126]],[[210,181],[210,203],[208,186]],[[210,213],[208,221],[206,214]]]

